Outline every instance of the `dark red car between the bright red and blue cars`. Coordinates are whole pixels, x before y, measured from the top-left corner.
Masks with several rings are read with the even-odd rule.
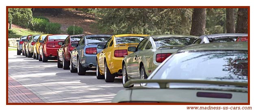
[[[70,64],[70,51],[74,49],[72,43],[78,44],[79,40],[85,35],[68,36],[63,45],[57,50],[57,66],[58,68],[69,69]]]

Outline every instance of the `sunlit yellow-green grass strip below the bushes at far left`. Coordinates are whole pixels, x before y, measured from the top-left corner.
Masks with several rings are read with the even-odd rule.
[[[22,29],[22,28],[12,28],[8,30],[8,38],[20,38],[21,36],[30,35],[30,34],[42,34],[42,32],[31,31],[31,30]]]

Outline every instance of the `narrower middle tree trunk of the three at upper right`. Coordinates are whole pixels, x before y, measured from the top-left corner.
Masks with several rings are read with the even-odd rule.
[[[235,33],[234,8],[226,8],[226,29],[227,33]]]

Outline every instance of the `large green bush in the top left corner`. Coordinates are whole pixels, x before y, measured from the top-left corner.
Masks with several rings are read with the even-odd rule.
[[[33,19],[31,8],[8,8],[8,22],[28,27]]]

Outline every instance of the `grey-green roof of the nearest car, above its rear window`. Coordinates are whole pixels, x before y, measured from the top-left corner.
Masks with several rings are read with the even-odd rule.
[[[178,52],[197,50],[248,50],[248,42],[212,42],[208,44],[192,44]]]

